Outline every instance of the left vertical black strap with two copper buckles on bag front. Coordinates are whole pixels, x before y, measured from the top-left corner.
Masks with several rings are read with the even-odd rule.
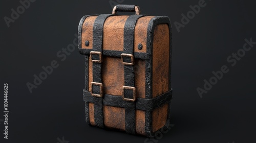
[[[94,96],[94,121],[97,127],[103,128],[103,85],[101,81],[101,63],[102,63],[102,40],[103,40],[103,26],[106,18],[111,14],[99,15],[93,25],[93,52],[91,52],[91,59],[93,62],[93,83],[91,84],[91,93]],[[95,95],[98,95],[95,96]]]

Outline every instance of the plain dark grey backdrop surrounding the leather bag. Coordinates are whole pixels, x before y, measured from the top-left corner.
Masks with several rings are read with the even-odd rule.
[[[256,5],[242,0],[205,2],[180,32],[173,25],[171,124],[175,126],[158,142],[255,142],[256,45],[236,66],[226,59],[242,49],[245,38],[256,41]],[[2,122],[0,140],[56,143],[64,136],[70,143],[145,141],[143,136],[88,126],[82,100],[84,58],[77,50],[63,62],[56,56],[73,43],[83,15],[112,12],[109,1],[37,0],[9,28],[4,17],[10,17],[11,9],[20,3],[0,3],[1,84],[9,84],[10,111],[9,139],[3,139]],[[181,14],[198,0],[124,0],[122,4],[139,5],[142,14],[167,15],[173,24],[181,22]],[[32,83],[33,75],[39,75],[41,67],[52,60],[58,61],[59,67],[30,93],[26,83]],[[227,65],[229,72],[201,99],[197,87],[203,88],[203,80],[209,80],[211,72],[222,65]]]

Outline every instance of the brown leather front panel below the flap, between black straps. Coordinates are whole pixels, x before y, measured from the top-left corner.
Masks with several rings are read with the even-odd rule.
[[[135,73],[135,88],[137,98],[145,98],[145,61],[135,59],[134,68]],[[92,62],[89,58],[89,91],[91,89],[91,82],[93,80]],[[121,58],[116,57],[103,57],[102,62],[102,84],[103,93],[113,96],[122,95],[122,86],[124,83],[124,71]],[[94,125],[94,108],[93,103],[89,105],[90,123]],[[103,108],[104,125],[109,128],[124,130],[125,116],[124,108],[105,106]],[[114,121],[113,121],[114,120]],[[136,131],[137,133],[144,134],[145,128],[145,111],[136,110]]]

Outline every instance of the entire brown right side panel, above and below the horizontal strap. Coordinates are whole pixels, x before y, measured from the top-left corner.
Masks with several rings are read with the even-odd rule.
[[[167,24],[159,24],[155,27],[153,41],[153,98],[169,90],[169,38]],[[153,132],[165,125],[167,111],[167,104],[153,111]]]

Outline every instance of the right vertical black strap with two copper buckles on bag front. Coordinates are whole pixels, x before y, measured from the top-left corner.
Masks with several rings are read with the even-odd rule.
[[[126,133],[136,134],[135,130],[135,100],[136,89],[134,85],[134,30],[136,22],[145,15],[131,15],[127,18],[124,25],[124,45],[122,62],[124,64],[124,86],[123,99],[125,100],[125,131]]]

